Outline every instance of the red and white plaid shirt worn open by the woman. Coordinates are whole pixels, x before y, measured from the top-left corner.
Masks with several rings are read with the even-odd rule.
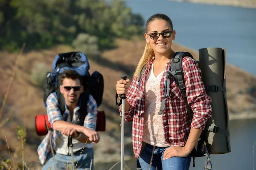
[[[145,72],[141,79],[140,91],[138,91],[138,76],[134,77],[129,87],[127,100],[130,108],[125,112],[125,122],[132,124],[132,143],[134,154],[138,158],[141,150],[141,142],[143,136],[143,124],[145,111],[145,79],[150,73],[151,66],[154,62],[154,57],[148,62]],[[171,60],[166,64],[159,90],[161,101],[167,98],[165,93],[166,72],[170,69]],[[166,99],[165,107],[163,108],[162,118],[165,131],[165,140],[170,146],[185,146],[189,136],[190,127],[196,129],[204,129],[208,119],[212,118],[211,105],[212,99],[207,96],[204,84],[201,80],[201,71],[197,63],[190,57],[183,58],[184,79],[186,85],[186,94],[188,104],[192,108],[194,115],[192,122],[189,120],[186,105],[182,94],[176,85],[173,77],[170,79],[171,98]],[[121,110],[119,109],[120,113]],[[122,116],[122,113],[120,114]]]

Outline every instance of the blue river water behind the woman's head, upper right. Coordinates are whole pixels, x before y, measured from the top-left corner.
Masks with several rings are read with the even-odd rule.
[[[167,14],[176,30],[175,41],[198,50],[227,47],[227,63],[256,76],[256,9],[213,6],[169,0],[126,0],[146,21]]]

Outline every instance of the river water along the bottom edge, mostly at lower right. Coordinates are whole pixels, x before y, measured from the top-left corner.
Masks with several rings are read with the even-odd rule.
[[[253,144],[256,142],[256,119],[230,121],[231,152],[222,155],[211,155],[212,170],[253,170]],[[128,149],[128,148],[125,148]],[[130,148],[129,148],[130,149]],[[256,146],[254,148],[256,153]],[[120,161],[120,160],[119,160]],[[95,170],[109,170],[115,162],[96,163]],[[126,170],[136,170],[135,159],[125,161]],[[204,170],[204,157],[195,158],[189,170]],[[120,170],[120,163],[112,170]]]

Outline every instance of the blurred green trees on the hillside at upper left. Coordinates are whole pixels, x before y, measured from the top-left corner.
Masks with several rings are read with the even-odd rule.
[[[78,34],[97,37],[99,50],[113,39],[142,32],[143,18],[122,0],[0,0],[0,47],[9,51],[72,45]]]

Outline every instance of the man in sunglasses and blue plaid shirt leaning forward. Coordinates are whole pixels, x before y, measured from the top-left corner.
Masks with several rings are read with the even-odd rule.
[[[65,70],[58,78],[59,87],[65,100],[65,110],[61,113],[57,92],[47,98],[47,115],[52,130],[38,147],[38,155],[43,170],[69,169],[72,162],[78,170],[93,170],[93,143],[99,142],[96,132],[97,104],[92,95],[88,95],[87,103],[81,101],[80,94],[84,91],[81,76],[74,70]],[[87,105],[87,114],[83,122],[79,108]],[[72,150],[68,138],[72,137]],[[86,144],[85,144],[86,143]],[[84,149],[83,149],[84,147]],[[81,153],[82,152],[82,153]],[[54,156],[52,155],[54,154]]]

